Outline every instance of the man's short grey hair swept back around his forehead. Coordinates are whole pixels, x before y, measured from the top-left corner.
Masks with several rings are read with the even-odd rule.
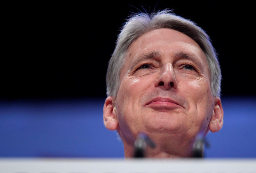
[[[159,28],[177,30],[192,38],[200,46],[209,65],[212,95],[220,97],[220,65],[209,36],[194,22],[175,15],[171,10],[151,14],[137,13],[126,21],[118,35],[116,48],[108,62],[107,95],[113,97],[117,95],[120,85],[120,72],[130,44],[141,35]]]

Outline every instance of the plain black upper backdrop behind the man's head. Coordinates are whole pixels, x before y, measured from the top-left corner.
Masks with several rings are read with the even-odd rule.
[[[207,31],[223,96],[256,95],[252,4],[216,1],[12,3],[3,6],[1,99],[105,97],[108,60],[131,12],[173,9]]]

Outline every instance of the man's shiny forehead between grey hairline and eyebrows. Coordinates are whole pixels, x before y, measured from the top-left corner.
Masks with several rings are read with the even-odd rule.
[[[189,36],[169,28],[152,30],[135,40],[128,49],[128,57],[138,57],[137,54],[147,51],[161,51],[166,54],[174,51],[185,51],[205,58],[200,46]]]

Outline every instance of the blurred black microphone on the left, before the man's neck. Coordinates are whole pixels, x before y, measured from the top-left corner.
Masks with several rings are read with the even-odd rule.
[[[145,157],[145,150],[147,145],[155,148],[155,143],[148,137],[146,133],[140,132],[134,142],[134,157]]]

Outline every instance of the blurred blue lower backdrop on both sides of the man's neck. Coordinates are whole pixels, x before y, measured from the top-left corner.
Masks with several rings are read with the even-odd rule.
[[[104,98],[19,100],[0,104],[1,157],[124,157],[105,129]],[[223,97],[224,126],[209,133],[205,157],[256,157],[256,99]]]

